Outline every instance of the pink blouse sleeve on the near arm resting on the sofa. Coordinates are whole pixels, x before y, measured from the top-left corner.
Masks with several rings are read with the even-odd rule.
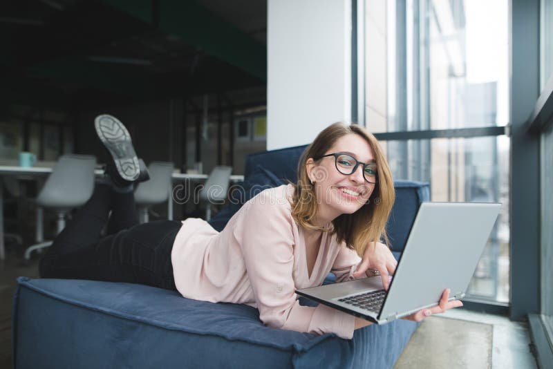
[[[355,317],[319,305],[299,305],[292,272],[294,235],[288,204],[260,193],[245,206],[246,213],[234,235],[241,245],[247,275],[259,318],[272,328],[324,334],[333,332],[351,339]]]

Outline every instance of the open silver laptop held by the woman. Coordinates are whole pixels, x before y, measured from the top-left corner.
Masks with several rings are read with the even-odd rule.
[[[446,288],[450,300],[462,299],[500,207],[422,202],[387,292],[373,276],[296,293],[377,324],[438,305]]]

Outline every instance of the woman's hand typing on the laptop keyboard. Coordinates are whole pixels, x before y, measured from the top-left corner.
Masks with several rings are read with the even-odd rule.
[[[393,257],[392,252],[388,246],[384,243],[370,243],[363,254],[362,262],[357,267],[357,271],[353,273],[355,278],[359,278],[365,273],[367,276],[375,276],[375,273],[371,271],[377,270],[382,278],[382,285],[384,290],[388,290],[390,285],[390,275],[395,272],[397,261]],[[377,275],[377,274],[376,274]]]

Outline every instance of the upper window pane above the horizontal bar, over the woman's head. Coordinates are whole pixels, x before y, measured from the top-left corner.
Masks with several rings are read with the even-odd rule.
[[[371,131],[508,123],[507,0],[366,0],[365,14]]]

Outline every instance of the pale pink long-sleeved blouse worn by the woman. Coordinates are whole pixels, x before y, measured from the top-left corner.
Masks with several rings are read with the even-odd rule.
[[[309,276],[303,227],[288,201],[293,191],[292,185],[262,191],[221,233],[205,220],[182,221],[171,252],[177,290],[189,299],[251,305],[272,328],[351,339],[355,316],[326,305],[300,306],[295,290],[321,285],[330,271],[337,281],[353,279],[361,259],[324,233]]]

